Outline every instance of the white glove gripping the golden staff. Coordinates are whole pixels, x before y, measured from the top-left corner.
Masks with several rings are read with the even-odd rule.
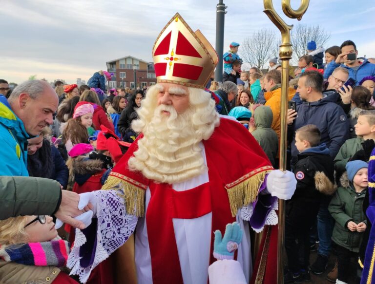
[[[294,174],[287,170],[272,170],[267,177],[267,190],[272,196],[288,200],[292,198],[297,181]]]

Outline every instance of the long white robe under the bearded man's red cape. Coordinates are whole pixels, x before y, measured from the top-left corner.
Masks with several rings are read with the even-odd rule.
[[[206,161],[206,152],[203,143],[200,143],[202,155]],[[208,182],[208,172],[194,177],[186,182],[173,184],[176,191],[194,189]],[[146,190],[146,210],[151,198],[150,189]],[[251,276],[251,250],[249,222],[244,222],[236,215],[244,231],[242,242],[238,247],[238,262],[241,264],[249,282]],[[210,257],[211,237],[213,238],[212,213],[195,219],[173,219],[174,234],[176,237],[178,255],[181,265],[184,284],[207,284],[208,266]],[[135,264],[139,284],[152,284],[151,255],[148,245],[146,217],[139,218],[135,234]],[[161,234],[163,232],[160,232]],[[222,232],[224,234],[224,232]],[[167,257],[166,251],[166,257]]]

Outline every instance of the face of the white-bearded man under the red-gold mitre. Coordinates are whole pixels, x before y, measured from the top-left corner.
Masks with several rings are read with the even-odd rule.
[[[187,87],[171,84],[159,83],[158,106],[169,105],[172,106],[177,114],[184,113],[189,107],[189,95]],[[170,113],[163,111],[163,114],[169,116]]]

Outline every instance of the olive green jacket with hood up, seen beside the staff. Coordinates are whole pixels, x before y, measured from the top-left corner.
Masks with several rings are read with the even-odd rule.
[[[278,138],[271,128],[273,114],[270,107],[259,106],[254,111],[254,123],[256,130],[251,132],[255,140],[270,159],[273,167],[276,167],[276,155],[278,150]]]

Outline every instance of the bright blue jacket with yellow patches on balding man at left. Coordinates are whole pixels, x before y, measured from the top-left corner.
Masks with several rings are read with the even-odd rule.
[[[29,176],[27,139],[23,122],[14,114],[5,96],[0,95],[0,175]]]

